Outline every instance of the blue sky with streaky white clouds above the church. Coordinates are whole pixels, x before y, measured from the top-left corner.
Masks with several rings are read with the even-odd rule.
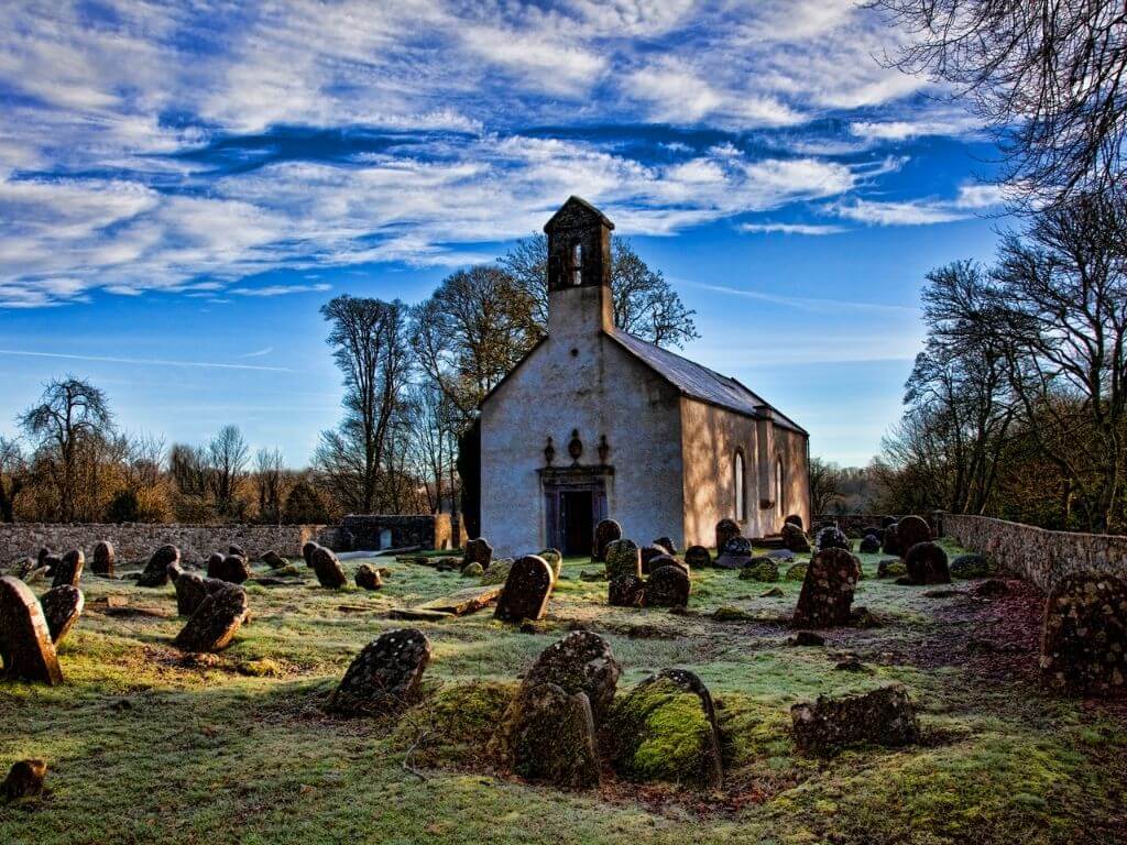
[[[683,354],[868,463],[928,270],[988,260],[996,151],[842,0],[6,5],[0,434],[47,380],[119,428],[339,418],[318,313],[408,303],[571,194],[695,310]]]

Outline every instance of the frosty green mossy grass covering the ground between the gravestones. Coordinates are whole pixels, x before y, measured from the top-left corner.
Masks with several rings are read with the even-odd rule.
[[[827,632],[826,649],[784,644],[799,582],[694,572],[692,613],[678,616],[609,607],[605,582],[579,579],[598,567],[566,560],[543,631],[522,633],[488,611],[415,623],[434,647],[429,696],[397,721],[321,708],[356,652],[405,624],[388,610],[472,584],[456,571],[381,559],[385,586],[364,593],[320,589],[301,567],[302,587],[251,586],[250,623],[225,652],[196,661],[169,644],[183,622],[171,587],[87,577],[87,612],[60,651],[66,683],[0,686],[0,766],[42,757],[50,767],[48,794],[0,803],[0,843],[1119,840],[1122,711],[1053,699],[1021,678],[984,679],[958,656],[916,659],[977,623],[951,610],[967,599],[876,580],[880,558],[862,555],[855,604],[884,626]],[[761,597],[770,587],[782,596]],[[154,615],[107,615],[99,599],[112,594]],[[721,606],[751,621],[712,620]],[[620,694],[664,667],[700,675],[724,733],[721,791],[609,779],[576,793],[495,775],[485,748],[507,695],[576,624],[611,642]],[[835,669],[845,650],[869,670]],[[894,681],[919,706],[923,745],[831,760],[796,751],[791,704]],[[409,749],[423,776],[405,767]]]

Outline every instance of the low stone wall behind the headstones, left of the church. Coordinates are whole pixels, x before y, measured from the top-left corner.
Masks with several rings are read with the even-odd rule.
[[[332,535],[334,530],[323,525],[0,524],[0,563],[34,558],[44,545],[57,552],[81,549],[89,560],[99,540],[113,543],[122,561],[147,560],[167,543],[178,546],[189,562],[204,561],[212,552],[225,552],[232,543],[251,558],[270,549],[298,557],[305,542],[331,542]]]

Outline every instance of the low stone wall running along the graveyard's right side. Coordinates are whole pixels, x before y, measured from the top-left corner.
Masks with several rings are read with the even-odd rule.
[[[988,516],[944,514],[947,536],[992,555],[1012,575],[1048,593],[1068,572],[1094,569],[1127,578],[1127,536],[1046,531]]]

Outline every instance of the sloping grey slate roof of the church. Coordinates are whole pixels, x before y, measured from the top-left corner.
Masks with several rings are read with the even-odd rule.
[[[680,390],[683,395],[708,402],[709,404],[716,404],[720,408],[727,408],[748,417],[761,418],[770,415],[774,424],[781,428],[789,428],[793,432],[806,434],[806,429],[795,422],[795,420],[780,413],[735,379],[720,375],[689,358],[683,358],[675,353],[671,353],[668,349],[663,349],[659,346],[655,346],[629,332],[622,331],[622,329],[611,329],[606,333],[616,340],[627,352]]]

